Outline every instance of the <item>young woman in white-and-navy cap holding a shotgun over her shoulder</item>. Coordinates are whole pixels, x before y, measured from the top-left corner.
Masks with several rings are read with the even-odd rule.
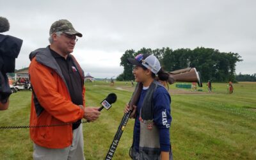
[[[134,65],[135,81],[143,84],[140,99],[134,106],[135,123],[133,143],[130,150],[132,159],[172,159],[170,149],[171,97],[164,86],[156,81],[167,81],[168,73],[161,68],[156,56],[139,54],[128,58]],[[125,113],[129,106],[125,107]]]

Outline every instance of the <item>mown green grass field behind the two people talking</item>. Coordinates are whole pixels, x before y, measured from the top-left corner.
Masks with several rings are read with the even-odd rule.
[[[174,159],[256,159],[256,83],[213,83],[212,94],[173,94],[172,147]],[[83,124],[84,154],[87,160],[104,159],[123,109],[132,92],[130,83],[86,83],[86,105],[99,106],[108,93],[118,99],[109,111],[102,110],[96,122]],[[132,90],[132,89],[131,89]],[[177,90],[175,85],[170,90]],[[206,91],[206,85],[203,87]],[[10,108],[0,112],[0,126],[28,125],[31,92],[10,97]],[[129,159],[134,120],[129,120],[113,159]],[[0,130],[0,159],[32,159],[29,129]]]

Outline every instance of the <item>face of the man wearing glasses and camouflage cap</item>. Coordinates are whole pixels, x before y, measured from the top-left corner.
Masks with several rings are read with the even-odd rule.
[[[76,35],[67,35],[66,33],[61,33],[60,36],[54,36],[56,43],[56,47],[63,52],[63,54],[70,54],[73,52],[74,47],[76,45]]]

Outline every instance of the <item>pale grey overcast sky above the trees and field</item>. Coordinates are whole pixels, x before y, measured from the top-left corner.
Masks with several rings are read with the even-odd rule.
[[[49,45],[49,29],[68,19],[83,33],[74,50],[85,73],[118,76],[127,49],[211,47],[237,52],[236,73],[256,73],[256,1],[56,1],[0,0],[0,16],[10,22],[6,35],[24,40],[16,68],[28,67],[28,55]]]

